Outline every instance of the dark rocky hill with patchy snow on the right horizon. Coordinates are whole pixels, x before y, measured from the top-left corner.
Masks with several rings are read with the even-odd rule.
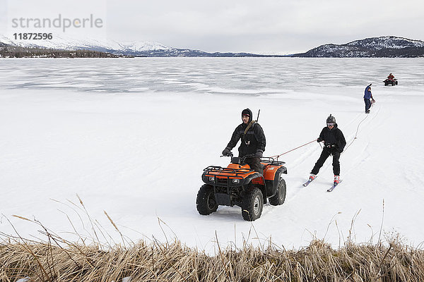
[[[423,57],[424,42],[403,37],[383,36],[346,44],[324,44],[296,57]]]

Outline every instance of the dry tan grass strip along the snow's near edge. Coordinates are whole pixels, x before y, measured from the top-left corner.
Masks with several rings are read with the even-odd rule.
[[[61,238],[39,221],[45,240],[28,240],[0,232],[0,281],[424,281],[424,251],[396,238],[388,244],[359,245],[348,241],[334,250],[324,240],[312,240],[300,250],[268,246],[222,250],[217,254],[182,245],[179,240],[160,243],[100,243],[104,231],[89,216],[81,199],[81,212],[93,228],[91,240],[74,232],[78,243]],[[73,204],[73,203],[72,203]],[[77,205],[73,204],[75,207]],[[354,220],[353,220],[354,221]],[[10,222],[10,221],[9,221]],[[163,221],[160,221],[161,225]],[[13,225],[12,225],[13,226]],[[73,226],[73,225],[72,225]],[[162,228],[162,227],[161,227]],[[256,231],[255,231],[256,232]],[[90,241],[91,243],[86,243]]]

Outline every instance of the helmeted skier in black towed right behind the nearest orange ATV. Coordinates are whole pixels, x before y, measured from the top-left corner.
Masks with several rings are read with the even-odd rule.
[[[326,159],[333,155],[333,172],[334,172],[334,185],[338,184],[340,178],[340,158],[341,152],[343,152],[344,147],[346,146],[346,140],[343,136],[343,133],[337,127],[336,118],[330,116],[326,119],[327,126],[322,128],[321,133],[317,139],[317,142],[324,142],[324,149],[322,149],[321,156],[314,168],[312,168],[310,181],[314,180],[317,177],[319,168],[322,167]]]

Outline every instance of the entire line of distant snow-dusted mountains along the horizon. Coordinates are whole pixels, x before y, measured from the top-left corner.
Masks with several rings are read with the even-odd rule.
[[[208,53],[193,49],[178,49],[167,47],[158,42],[116,42],[113,40],[99,41],[95,39],[64,39],[54,37],[54,40],[11,40],[0,35],[0,48],[19,47],[20,49],[52,49],[52,50],[86,50],[102,52],[112,56],[147,56],[147,57],[269,57],[279,55],[264,55],[252,53]],[[1,56],[1,54],[0,54]],[[323,58],[416,58],[424,57],[424,42],[404,37],[383,36],[355,40],[346,44],[324,44],[305,53],[285,55],[292,57],[323,57]]]

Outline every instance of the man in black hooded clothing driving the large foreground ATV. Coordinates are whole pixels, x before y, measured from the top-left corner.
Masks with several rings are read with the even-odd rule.
[[[231,149],[237,145],[238,140],[241,139],[240,147],[238,148],[239,157],[245,157],[248,154],[254,154],[254,157],[247,157],[245,163],[259,173],[263,173],[264,170],[261,168],[261,157],[265,151],[265,135],[261,125],[252,121],[252,111],[244,109],[242,111],[242,124],[235,128],[234,133],[227,147],[223,150],[224,156],[231,154]]]

